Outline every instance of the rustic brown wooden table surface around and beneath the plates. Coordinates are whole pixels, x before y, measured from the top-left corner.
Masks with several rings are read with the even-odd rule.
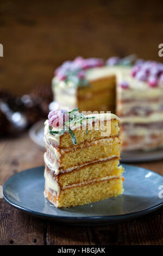
[[[23,169],[41,166],[43,150],[29,138],[0,141],[0,185]],[[137,164],[163,175],[163,161]],[[143,217],[99,227],[73,227],[24,214],[0,199],[2,245],[162,245],[163,208]]]

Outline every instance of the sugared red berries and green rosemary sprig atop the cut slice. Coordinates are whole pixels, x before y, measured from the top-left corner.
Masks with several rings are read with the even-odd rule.
[[[82,113],[79,113],[79,108],[75,108],[72,111],[67,111],[66,109],[57,109],[51,111],[48,114],[48,119],[49,133],[56,135],[69,131],[72,137],[72,142],[76,145],[77,140],[71,127],[75,126],[76,124],[80,124],[85,127],[87,134],[86,124],[84,124],[83,121],[87,119],[95,119],[95,117],[84,117]]]

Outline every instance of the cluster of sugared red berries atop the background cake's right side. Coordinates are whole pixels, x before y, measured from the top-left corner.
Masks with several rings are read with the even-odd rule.
[[[149,87],[158,87],[159,82],[162,83],[163,64],[152,60],[137,60],[131,75],[137,80],[147,82]]]

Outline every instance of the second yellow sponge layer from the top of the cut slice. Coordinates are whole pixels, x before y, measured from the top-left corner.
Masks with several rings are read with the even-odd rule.
[[[57,162],[62,170],[81,166],[84,163],[93,161],[102,161],[112,156],[120,157],[120,143],[119,137],[110,137],[98,139],[91,143],[79,144],[78,147],[72,150],[59,150],[58,148],[47,147],[47,157],[53,162]],[[56,159],[52,158],[52,151],[54,150]]]

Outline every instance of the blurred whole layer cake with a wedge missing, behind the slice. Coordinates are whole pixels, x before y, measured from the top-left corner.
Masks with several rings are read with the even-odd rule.
[[[56,71],[54,100],[61,108],[111,111],[120,117],[121,150],[163,146],[163,65],[153,61],[77,57]]]

